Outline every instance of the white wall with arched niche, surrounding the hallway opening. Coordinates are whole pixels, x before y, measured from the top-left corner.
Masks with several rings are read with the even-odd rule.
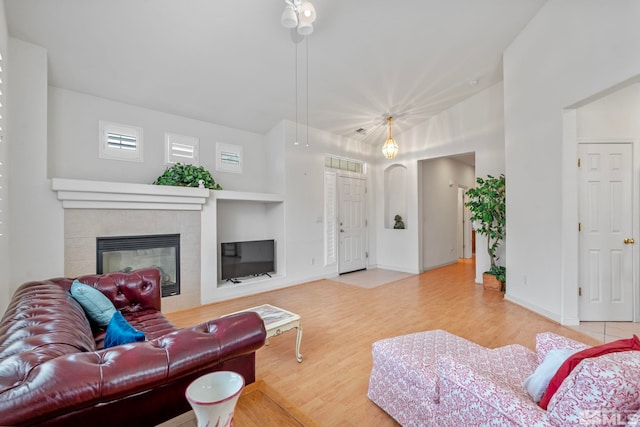
[[[407,167],[408,212],[407,232],[384,228],[384,200],[376,201],[378,266],[418,273],[424,270],[421,235],[423,234],[421,202],[423,198],[420,160],[453,154],[475,152],[476,176],[499,175],[504,172],[503,90],[496,84],[443,111],[425,123],[395,135],[400,152],[393,161],[380,159],[375,184],[382,188],[383,172],[390,164]],[[477,247],[482,247],[478,236]],[[426,242],[425,252],[437,251],[440,242]],[[483,251],[476,255],[476,281],[489,268],[489,257]]]

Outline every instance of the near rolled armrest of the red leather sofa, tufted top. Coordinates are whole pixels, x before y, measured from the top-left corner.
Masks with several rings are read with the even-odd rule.
[[[247,312],[151,341],[66,354],[34,367],[23,381],[5,390],[0,395],[0,419],[7,425],[38,423],[143,393],[255,352],[265,337],[262,319]]]

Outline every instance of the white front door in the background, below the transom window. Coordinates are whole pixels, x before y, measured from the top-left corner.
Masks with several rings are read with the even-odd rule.
[[[338,177],[338,273],[367,268],[365,180]]]

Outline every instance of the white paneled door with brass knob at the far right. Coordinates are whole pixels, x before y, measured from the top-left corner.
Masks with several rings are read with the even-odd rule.
[[[580,320],[633,320],[631,144],[579,144]]]

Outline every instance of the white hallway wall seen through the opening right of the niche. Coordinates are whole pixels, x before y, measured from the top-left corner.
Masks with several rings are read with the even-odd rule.
[[[425,245],[422,265],[428,270],[458,260],[458,187],[473,187],[475,170],[443,157],[425,160],[421,179]]]

